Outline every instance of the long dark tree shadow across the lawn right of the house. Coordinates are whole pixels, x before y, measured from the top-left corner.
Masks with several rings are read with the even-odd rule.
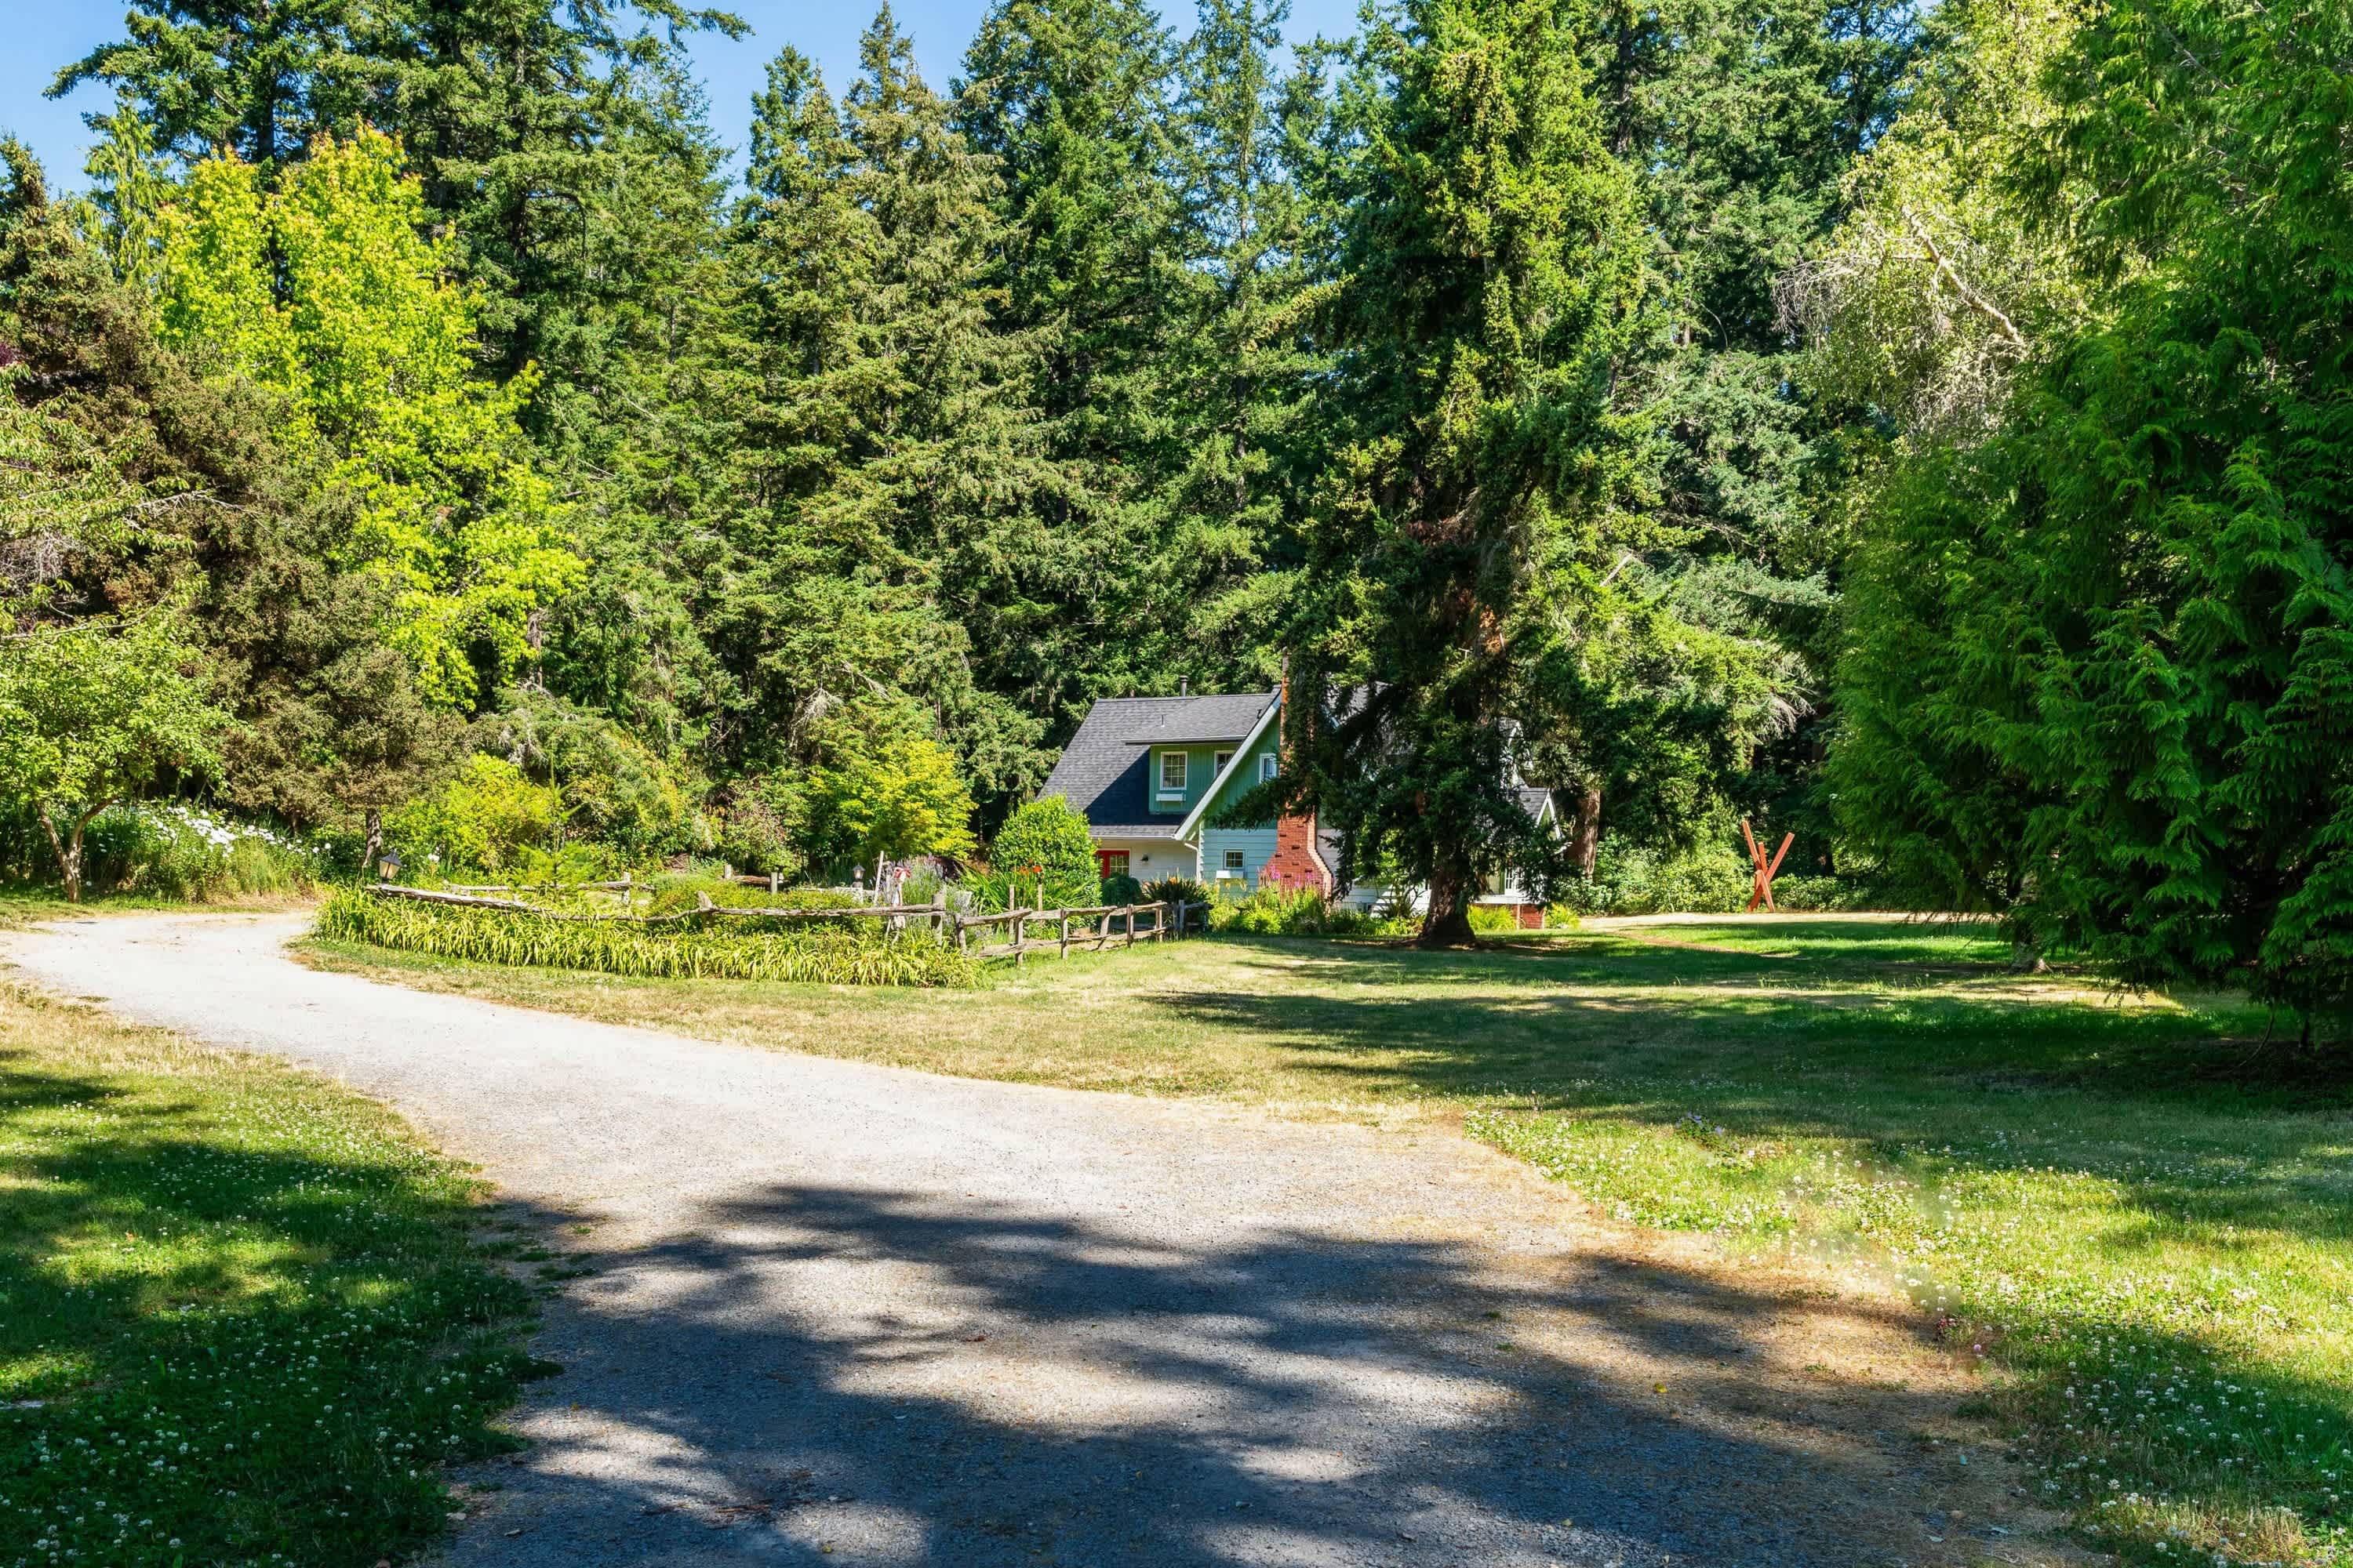
[[[1859,1140],[1887,1159],[1967,1143],[1977,1152],[1953,1168],[2057,1159],[2115,1180],[2127,1208],[2165,1222],[2353,1241],[2341,1159],[2353,1053],[2337,1065],[2266,1056],[2245,1032],[2261,1013],[2240,1004],[2127,1011],[1819,971],[1807,990],[1725,992],[1668,978],[1661,966],[1682,952],[1480,954],[1452,971],[1442,957],[1327,954],[1308,959],[1306,990],[1146,999],[1181,1023],[1249,1032],[1289,1072],[1355,1095],[1466,1095],[1654,1128],[1697,1114],[1739,1140]],[[1718,976],[1753,973],[1741,966],[1755,959],[1701,957]],[[1261,961],[1299,973],[1294,943]],[[1986,1150],[1995,1128],[2026,1138]]]

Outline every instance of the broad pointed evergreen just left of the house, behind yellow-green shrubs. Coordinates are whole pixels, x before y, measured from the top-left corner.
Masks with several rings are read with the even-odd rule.
[[[741,766],[807,759],[842,701],[929,708],[984,790],[1042,776],[1064,487],[1002,331],[995,174],[889,9],[840,106],[793,52],[753,122],[741,301],[708,395],[729,414],[725,564],[706,581]]]

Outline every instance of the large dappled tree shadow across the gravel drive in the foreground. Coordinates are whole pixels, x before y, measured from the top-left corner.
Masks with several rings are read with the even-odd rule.
[[[1748,1420],[1788,1300],[1722,1279],[793,1187],[600,1265],[551,1309],[555,1439],[492,1467],[456,1563],[1793,1566],[1939,1561],[1946,1533],[1920,1497],[1948,1493],[1885,1490],[1946,1401]],[[614,1432],[652,1465],[609,1462]]]

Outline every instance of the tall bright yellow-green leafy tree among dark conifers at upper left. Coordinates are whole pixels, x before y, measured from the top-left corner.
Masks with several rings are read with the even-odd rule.
[[[386,639],[428,698],[473,708],[581,567],[518,425],[534,374],[473,371],[482,299],[426,221],[376,132],[315,143],[275,188],[207,160],[162,219],[162,329],[280,393],[287,437],[334,454],[329,482],[360,501],[346,550],[398,583]]]

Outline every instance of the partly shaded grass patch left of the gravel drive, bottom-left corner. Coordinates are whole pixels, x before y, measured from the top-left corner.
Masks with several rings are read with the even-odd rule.
[[[407,1556],[534,1371],[480,1220],[351,1093],[0,985],[0,1563]]]

